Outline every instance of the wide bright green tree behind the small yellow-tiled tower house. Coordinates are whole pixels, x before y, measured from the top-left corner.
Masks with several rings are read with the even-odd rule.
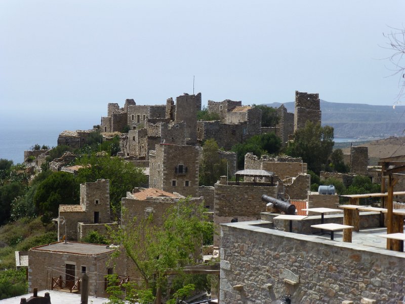
[[[82,165],[77,171],[76,185],[94,182],[104,178],[110,181],[110,206],[116,215],[119,214],[121,198],[126,197],[128,191],[146,183],[147,178],[141,168],[118,157],[110,157],[106,153],[92,153],[76,160]]]

